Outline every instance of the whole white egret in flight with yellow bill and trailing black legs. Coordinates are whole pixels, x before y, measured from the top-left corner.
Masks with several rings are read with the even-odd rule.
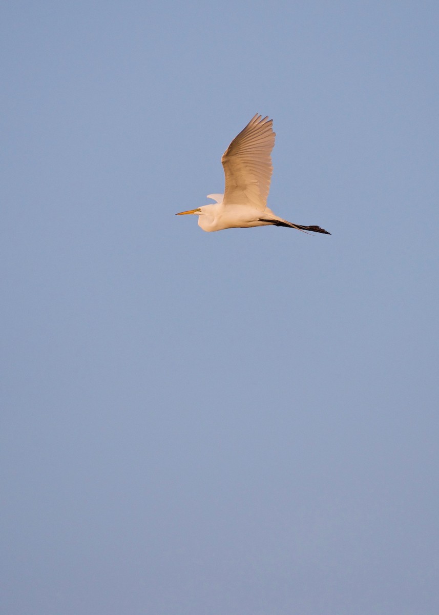
[[[214,204],[176,215],[197,215],[198,224],[204,231],[275,224],[330,235],[320,226],[303,226],[283,220],[267,207],[273,171],[271,151],[276,136],[272,124],[272,119],[256,114],[234,138],[221,158],[226,175],[224,194],[208,194],[208,199],[216,201]]]

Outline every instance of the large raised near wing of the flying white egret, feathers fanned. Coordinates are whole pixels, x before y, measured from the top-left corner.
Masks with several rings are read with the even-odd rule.
[[[273,121],[258,114],[234,138],[221,158],[226,175],[224,205],[249,205],[263,211],[270,190]]]

